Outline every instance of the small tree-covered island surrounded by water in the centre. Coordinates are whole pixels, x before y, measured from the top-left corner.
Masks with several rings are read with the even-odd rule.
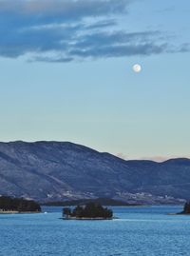
[[[100,204],[88,203],[85,206],[63,208],[64,220],[112,220],[113,212]]]

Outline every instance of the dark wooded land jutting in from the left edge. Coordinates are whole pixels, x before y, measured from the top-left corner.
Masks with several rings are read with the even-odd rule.
[[[0,214],[38,212],[41,212],[41,207],[33,200],[0,196]]]

